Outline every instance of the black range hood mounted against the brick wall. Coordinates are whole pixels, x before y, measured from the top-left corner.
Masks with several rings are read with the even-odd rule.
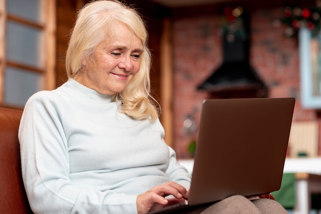
[[[249,20],[242,19],[230,22],[223,31],[223,63],[215,69],[198,90],[212,94],[227,92],[251,92],[256,97],[267,95],[268,88],[259,78],[249,61]]]

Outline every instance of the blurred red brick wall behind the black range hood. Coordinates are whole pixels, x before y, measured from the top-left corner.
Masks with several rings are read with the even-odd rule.
[[[257,9],[251,16],[250,61],[267,83],[269,97],[295,97],[294,121],[318,120],[316,111],[300,104],[298,42],[283,35],[272,19],[283,8]],[[188,146],[196,140],[194,126],[184,129],[186,119],[197,126],[202,100],[209,97],[196,87],[222,63],[220,16],[176,18],[173,21],[174,142],[179,158],[188,158]],[[187,121],[186,121],[187,122]],[[196,127],[197,128],[197,127]],[[320,154],[320,152],[319,152]]]

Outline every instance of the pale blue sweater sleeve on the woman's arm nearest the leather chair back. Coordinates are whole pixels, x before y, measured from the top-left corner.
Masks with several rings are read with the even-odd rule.
[[[137,195],[72,185],[63,99],[38,92],[27,102],[19,127],[23,180],[35,213],[136,213]],[[65,108],[65,109],[64,109]]]

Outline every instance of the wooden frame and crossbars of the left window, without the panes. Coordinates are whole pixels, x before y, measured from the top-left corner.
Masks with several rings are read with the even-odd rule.
[[[53,90],[55,88],[55,52],[56,52],[56,0],[41,0],[41,22],[36,23],[28,19],[8,14],[6,11],[6,1],[0,0],[0,106],[6,108],[23,109],[23,106],[11,106],[5,103],[5,68],[27,69],[30,72],[41,73],[43,75],[43,88],[41,90]],[[21,23],[25,26],[41,29],[40,67],[32,67],[23,63],[7,60],[6,58],[6,23],[7,20]]]

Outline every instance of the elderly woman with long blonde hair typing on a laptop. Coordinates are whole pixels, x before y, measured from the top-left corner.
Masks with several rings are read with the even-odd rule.
[[[147,39],[141,16],[122,3],[95,1],[79,11],[68,81],[30,97],[19,127],[33,212],[147,213],[188,199],[190,174],[164,142],[150,95]],[[280,210],[273,200],[263,204]],[[259,212],[240,196],[202,210],[238,206]]]

